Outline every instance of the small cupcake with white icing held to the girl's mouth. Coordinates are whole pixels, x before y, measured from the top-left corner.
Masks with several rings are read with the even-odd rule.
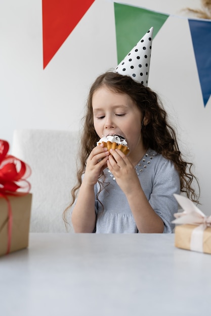
[[[98,142],[97,145],[100,145],[101,143],[104,144],[104,147],[107,147],[108,150],[112,149],[119,149],[121,150],[125,155],[129,153],[130,149],[127,145],[127,142],[125,138],[123,138],[120,135],[107,135],[103,136]]]

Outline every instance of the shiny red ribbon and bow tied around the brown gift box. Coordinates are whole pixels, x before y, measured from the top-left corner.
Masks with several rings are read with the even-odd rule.
[[[8,202],[8,249],[10,252],[12,236],[12,209],[7,195],[21,196],[30,191],[31,185],[26,180],[31,175],[30,167],[18,158],[7,154],[9,143],[0,139],[0,197]]]

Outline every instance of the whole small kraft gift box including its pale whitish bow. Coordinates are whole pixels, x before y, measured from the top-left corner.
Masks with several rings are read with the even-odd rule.
[[[184,212],[175,214],[175,246],[211,254],[211,216],[205,216],[188,198],[174,194]]]

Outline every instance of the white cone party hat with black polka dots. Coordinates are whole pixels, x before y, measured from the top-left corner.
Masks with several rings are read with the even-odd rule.
[[[123,76],[130,76],[145,86],[148,84],[149,77],[152,33],[153,27],[150,28],[150,30],[115,68],[117,73]]]

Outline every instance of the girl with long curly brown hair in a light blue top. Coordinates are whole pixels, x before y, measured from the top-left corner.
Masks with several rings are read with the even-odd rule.
[[[113,134],[126,139],[128,155],[97,145]],[[78,184],[72,189],[74,231],[171,233],[178,212],[173,194],[185,192],[197,201],[191,167],[157,94],[133,76],[100,75],[87,102]]]

